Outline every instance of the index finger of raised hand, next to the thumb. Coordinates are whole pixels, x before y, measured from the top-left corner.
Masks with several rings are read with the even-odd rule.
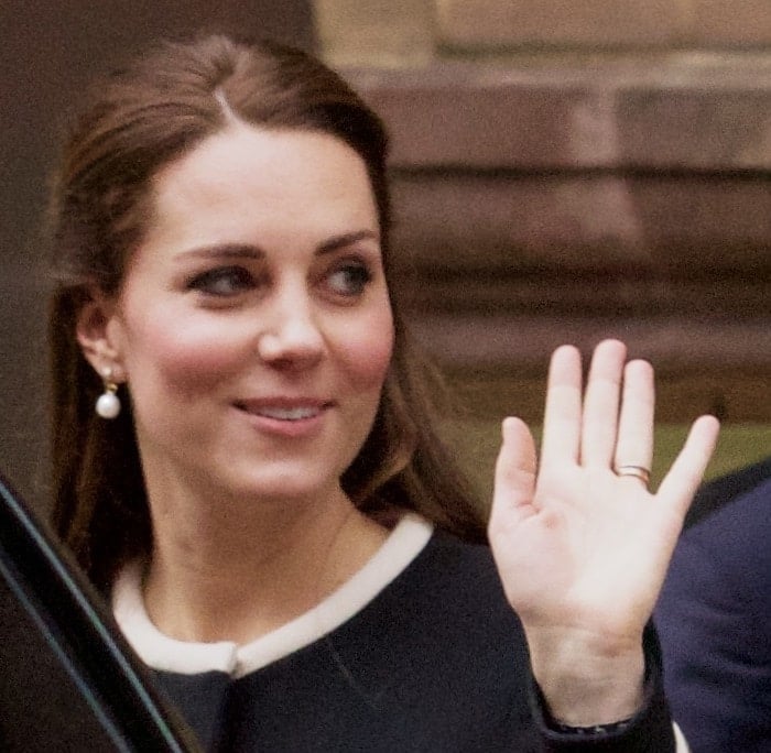
[[[578,460],[580,441],[580,353],[562,346],[552,354],[543,418],[541,465],[554,466]]]

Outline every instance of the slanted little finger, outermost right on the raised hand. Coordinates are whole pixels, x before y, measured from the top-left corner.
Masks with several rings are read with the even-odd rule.
[[[719,423],[715,416],[697,418],[683,449],[659,487],[656,496],[671,504],[685,517],[704,471],[717,444]]]

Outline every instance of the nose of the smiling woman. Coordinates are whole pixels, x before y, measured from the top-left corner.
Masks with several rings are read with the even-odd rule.
[[[283,368],[306,368],[324,353],[318,313],[304,292],[286,290],[270,302],[258,352],[265,362]]]

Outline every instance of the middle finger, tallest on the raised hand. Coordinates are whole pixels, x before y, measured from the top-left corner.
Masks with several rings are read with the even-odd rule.
[[[580,434],[583,466],[610,466],[616,447],[619,393],[627,348],[605,340],[595,348],[584,397]]]

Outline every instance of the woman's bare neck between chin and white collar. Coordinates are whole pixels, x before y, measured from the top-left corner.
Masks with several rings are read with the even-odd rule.
[[[152,498],[151,498],[152,499]],[[310,500],[166,499],[153,510],[144,598],[183,641],[247,643],[303,614],[387,536],[339,488]]]

